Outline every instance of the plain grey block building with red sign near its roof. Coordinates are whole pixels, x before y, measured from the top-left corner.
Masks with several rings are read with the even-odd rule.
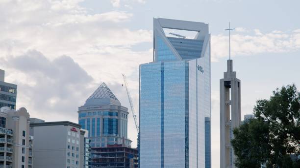
[[[31,123],[35,168],[83,168],[85,131],[72,122]],[[82,143],[83,142],[83,143]]]

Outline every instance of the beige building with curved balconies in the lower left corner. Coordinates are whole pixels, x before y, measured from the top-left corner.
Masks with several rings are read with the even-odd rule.
[[[0,108],[0,168],[31,168],[29,113]]]

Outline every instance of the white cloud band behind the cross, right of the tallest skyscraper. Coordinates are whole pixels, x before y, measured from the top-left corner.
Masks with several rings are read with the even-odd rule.
[[[244,28],[241,28],[244,30]],[[228,36],[223,34],[212,36],[212,61],[228,57]],[[244,56],[260,53],[292,52],[300,49],[300,32],[272,31],[261,33],[254,29],[254,34],[238,31],[231,35],[231,55]]]

